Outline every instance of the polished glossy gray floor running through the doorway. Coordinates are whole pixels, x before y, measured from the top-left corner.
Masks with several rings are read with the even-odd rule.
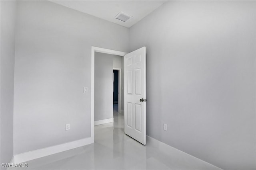
[[[28,161],[28,168],[215,170],[216,166],[152,139],[144,146],[124,134],[124,116],[114,106],[114,123],[95,126],[94,143]]]

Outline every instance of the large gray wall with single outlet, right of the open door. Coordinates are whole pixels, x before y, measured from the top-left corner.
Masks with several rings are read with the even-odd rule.
[[[147,135],[255,169],[255,19],[255,1],[171,1],[130,28],[130,51],[147,48]]]

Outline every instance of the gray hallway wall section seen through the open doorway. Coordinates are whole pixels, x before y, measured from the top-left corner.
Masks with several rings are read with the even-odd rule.
[[[113,117],[113,55],[95,53],[94,120]]]

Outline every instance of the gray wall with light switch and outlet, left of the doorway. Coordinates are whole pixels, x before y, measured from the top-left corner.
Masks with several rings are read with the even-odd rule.
[[[126,52],[129,30],[48,1],[17,16],[14,154],[90,137],[91,46]]]

